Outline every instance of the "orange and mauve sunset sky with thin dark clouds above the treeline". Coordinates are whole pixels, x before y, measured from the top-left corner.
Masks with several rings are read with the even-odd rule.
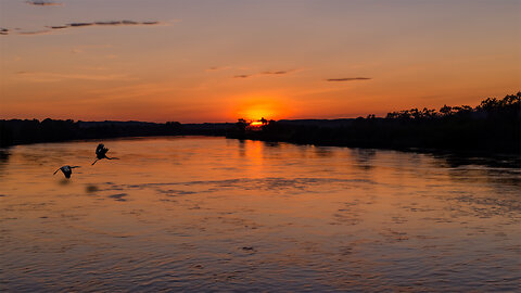
[[[521,90],[521,0],[0,0],[0,118],[350,118]]]

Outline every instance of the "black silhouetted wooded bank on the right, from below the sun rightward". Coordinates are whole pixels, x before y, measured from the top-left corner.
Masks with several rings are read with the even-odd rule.
[[[461,152],[520,154],[521,92],[487,98],[474,107],[444,105],[387,113],[385,117],[267,122],[250,131],[240,119],[228,137],[317,145],[383,149],[436,149]]]

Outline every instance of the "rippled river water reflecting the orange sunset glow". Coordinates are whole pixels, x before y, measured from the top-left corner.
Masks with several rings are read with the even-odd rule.
[[[0,291],[519,291],[508,161],[223,138],[0,151]],[[52,173],[80,165],[71,180]]]

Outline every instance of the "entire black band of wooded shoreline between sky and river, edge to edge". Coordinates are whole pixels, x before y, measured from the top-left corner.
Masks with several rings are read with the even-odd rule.
[[[350,119],[244,119],[221,124],[0,120],[0,146],[81,139],[149,136],[226,136],[300,144],[479,154],[521,152],[521,92],[488,98],[478,106],[443,106]]]

